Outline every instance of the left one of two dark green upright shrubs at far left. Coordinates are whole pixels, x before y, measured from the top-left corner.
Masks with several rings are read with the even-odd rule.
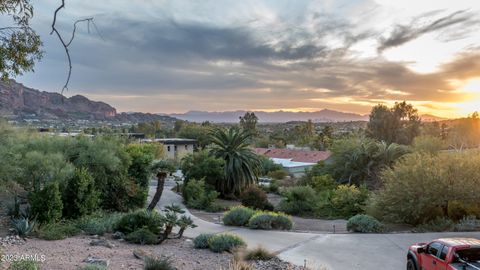
[[[62,195],[57,182],[50,182],[42,190],[31,193],[29,202],[32,215],[40,223],[57,222],[62,217]]]

